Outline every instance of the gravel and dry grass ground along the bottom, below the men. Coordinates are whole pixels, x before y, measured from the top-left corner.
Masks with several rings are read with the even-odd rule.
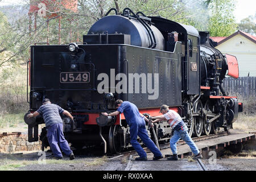
[[[242,131],[232,130],[233,133]],[[178,146],[179,148],[179,146]],[[179,150],[179,149],[178,149]],[[170,154],[170,148],[161,150],[163,154]],[[46,153],[46,156],[51,153]],[[152,153],[148,152],[149,161],[137,162],[134,160],[137,155],[133,156],[129,170],[133,171],[187,171],[200,170],[199,165],[191,160],[184,158],[178,162],[170,162],[166,158],[159,161],[152,161]],[[127,156],[121,156],[109,160],[106,157],[89,157],[76,156],[75,160],[69,160],[67,156],[64,160],[53,160],[46,158],[41,160],[38,151],[20,152],[20,154],[1,154],[0,153],[0,171],[17,170],[17,171],[124,171],[129,162]],[[218,157],[215,164],[210,164],[209,160],[204,159],[203,163],[208,170],[213,171],[249,171],[256,170],[256,158],[253,155],[245,157]]]

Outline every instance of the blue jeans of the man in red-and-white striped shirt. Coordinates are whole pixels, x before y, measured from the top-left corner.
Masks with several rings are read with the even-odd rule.
[[[172,154],[177,154],[176,143],[177,141],[179,141],[180,138],[183,139],[188,144],[193,154],[195,155],[199,154],[200,151],[196,147],[195,142],[193,142],[193,140],[189,136],[188,127],[186,125],[183,125],[183,129],[181,130],[175,130],[174,135],[172,135],[172,138],[170,139],[170,148],[171,148]]]

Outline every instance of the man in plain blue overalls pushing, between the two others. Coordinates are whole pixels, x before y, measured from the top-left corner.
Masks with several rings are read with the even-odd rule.
[[[117,111],[114,111],[113,113],[101,113],[103,115],[118,115],[120,113],[123,113],[125,115],[126,122],[128,123],[130,127],[130,142],[131,145],[134,147],[134,149],[138,152],[139,157],[135,158],[135,160],[147,160],[147,154],[137,141],[137,137],[142,139],[142,142],[151,150],[151,152],[154,154],[153,160],[162,159],[163,155],[156,147],[155,143],[148,137],[147,130],[146,130],[146,123],[148,122],[148,119],[144,117],[141,113],[139,113],[139,110],[137,106],[135,106],[133,103],[129,101],[122,101],[117,100],[115,101],[115,107],[117,107]],[[152,127],[152,123],[150,123],[150,126]]]

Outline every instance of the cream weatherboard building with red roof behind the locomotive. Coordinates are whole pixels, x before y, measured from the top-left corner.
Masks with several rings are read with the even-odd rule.
[[[228,37],[211,37],[223,54],[236,56],[239,76],[256,76],[256,36],[238,30]]]

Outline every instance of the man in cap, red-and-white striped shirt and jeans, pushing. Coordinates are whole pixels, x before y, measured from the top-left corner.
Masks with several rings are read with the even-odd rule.
[[[155,119],[152,122],[155,123],[166,120],[171,126],[172,130],[174,130],[174,135],[172,135],[172,138],[170,139],[170,148],[173,155],[170,158],[167,158],[167,160],[178,160],[176,143],[180,138],[183,139],[191,148],[193,154],[195,155],[193,159],[201,159],[202,155],[200,154],[195,142],[193,142],[189,136],[188,127],[185,125],[180,115],[174,110],[169,110],[167,105],[162,105],[159,113],[162,113],[163,115],[151,117],[150,119]]]

